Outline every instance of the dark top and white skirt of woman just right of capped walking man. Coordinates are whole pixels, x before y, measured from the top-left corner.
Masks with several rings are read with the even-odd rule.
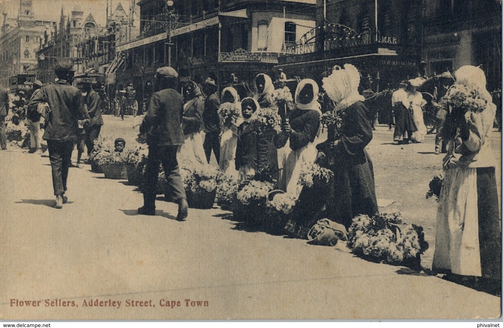
[[[198,97],[184,105],[182,127],[185,141],[180,146],[177,156],[181,168],[191,168],[206,163],[203,148],[204,132],[201,128],[203,110],[204,104]]]

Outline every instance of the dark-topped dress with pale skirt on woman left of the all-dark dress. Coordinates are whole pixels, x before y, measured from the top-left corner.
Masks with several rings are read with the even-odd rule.
[[[312,164],[318,150],[314,144],[319,128],[319,112],[315,110],[295,109],[290,113],[290,126],[294,132],[288,137],[283,133],[274,138],[277,148],[284,147],[280,160],[278,188],[298,198],[302,185],[298,184],[303,165]]]

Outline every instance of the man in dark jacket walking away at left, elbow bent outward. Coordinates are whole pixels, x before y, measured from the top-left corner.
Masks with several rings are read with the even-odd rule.
[[[67,188],[68,168],[71,152],[77,140],[78,126],[91,122],[82,93],[71,86],[73,69],[71,65],[58,65],[54,69],[58,81],[41,88],[30,102],[30,107],[47,102],[50,113],[43,138],[47,140],[52,169],[52,185],[56,196],[55,208],[62,208],[67,202],[64,196]]]

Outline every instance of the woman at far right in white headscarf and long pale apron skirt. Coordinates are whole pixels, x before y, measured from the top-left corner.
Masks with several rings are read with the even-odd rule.
[[[500,212],[495,159],[489,147],[496,106],[480,68],[462,66],[455,76],[454,87],[478,94],[482,107],[452,107],[442,130],[449,145],[437,212],[433,270],[450,274],[455,281],[481,277],[481,287],[500,293]]]

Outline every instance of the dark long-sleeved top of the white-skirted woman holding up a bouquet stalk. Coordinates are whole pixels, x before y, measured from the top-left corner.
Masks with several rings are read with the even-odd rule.
[[[290,134],[290,148],[297,150],[316,138],[319,128],[319,113],[314,110],[295,109],[290,113],[290,126],[293,132]],[[285,146],[288,136],[280,133],[274,136],[276,148]]]

